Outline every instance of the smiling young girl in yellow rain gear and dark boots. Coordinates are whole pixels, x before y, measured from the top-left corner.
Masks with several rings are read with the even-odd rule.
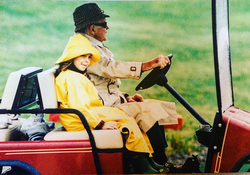
[[[132,117],[118,108],[103,106],[94,85],[85,76],[86,68],[100,59],[99,51],[81,34],[72,37],[64,54],[56,61],[59,69],[56,77],[56,93],[60,108],[74,108],[83,113],[91,129],[128,129],[126,149],[136,154],[132,158],[136,173],[159,173],[153,169],[146,154],[153,149],[145,133],[142,133]],[[75,114],[59,114],[67,131],[84,130],[80,118]],[[133,154],[134,155],[134,154]],[[138,156],[139,155],[139,156]]]

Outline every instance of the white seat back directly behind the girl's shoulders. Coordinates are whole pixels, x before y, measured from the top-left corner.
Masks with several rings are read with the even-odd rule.
[[[55,72],[57,67],[37,74],[38,97],[41,109],[57,108]]]

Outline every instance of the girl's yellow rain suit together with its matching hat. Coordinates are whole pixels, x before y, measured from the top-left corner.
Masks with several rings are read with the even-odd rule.
[[[84,55],[86,53],[92,53],[85,51],[78,54],[72,54],[74,51],[80,51],[79,47],[81,46],[77,44],[79,40],[81,40],[81,43],[85,44],[85,46],[81,44],[84,48],[86,48],[86,45],[89,46],[90,44],[85,37],[81,35],[74,36],[69,41],[66,52],[59,58],[59,61],[56,62],[57,64],[64,62],[65,59],[68,61],[69,54]],[[96,55],[93,54],[93,56]],[[65,57],[65,59],[63,57]],[[72,59],[73,58],[74,57],[72,57]],[[93,63],[96,60],[91,61]],[[74,108],[81,111],[92,129],[94,129],[101,120],[104,122],[116,121],[121,132],[123,128],[129,130],[129,136],[125,144],[128,150],[144,153],[153,152],[148,137],[145,133],[141,132],[136,121],[128,117],[124,111],[118,108],[104,107],[99,100],[96,88],[83,74],[72,70],[62,71],[56,77],[56,93],[60,108]],[[80,118],[75,114],[59,114],[59,117],[62,125],[67,131],[84,130]]]

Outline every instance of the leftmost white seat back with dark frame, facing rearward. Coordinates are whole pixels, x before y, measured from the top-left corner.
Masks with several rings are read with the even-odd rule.
[[[36,102],[35,75],[42,70],[40,67],[27,67],[12,72],[7,79],[0,108],[20,109]]]

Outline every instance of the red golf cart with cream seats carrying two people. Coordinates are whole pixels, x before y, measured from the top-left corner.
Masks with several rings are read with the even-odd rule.
[[[213,125],[169,85],[165,76],[169,66],[151,71],[136,90],[154,84],[164,86],[201,123],[201,129],[196,134],[198,141],[208,147],[205,173],[248,171],[250,113],[235,107],[233,103],[228,0],[212,0],[212,17],[218,103]],[[55,69],[43,71],[39,67],[28,67],[10,74],[1,100],[0,114],[11,116],[8,122],[12,124],[1,126],[0,129],[0,166],[18,167],[19,171],[23,169],[23,173],[17,174],[123,174],[124,142],[121,133],[118,130],[90,130],[87,120],[78,110],[58,109],[54,88]],[[33,118],[17,117],[58,113],[77,114],[86,131],[67,132],[63,127],[53,129],[48,123],[44,125],[43,121],[40,124],[37,120],[31,121]],[[36,129],[41,125],[46,126],[48,132],[25,132],[22,135],[23,126],[27,126],[27,123]],[[33,139],[23,139],[27,136]]]

